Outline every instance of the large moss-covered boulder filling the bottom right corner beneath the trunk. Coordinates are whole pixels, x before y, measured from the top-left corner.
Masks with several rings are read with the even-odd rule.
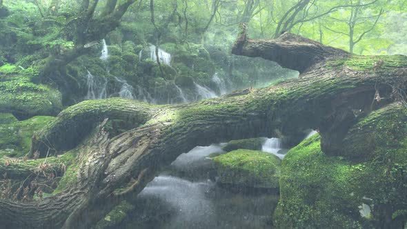
[[[407,129],[405,112],[395,103],[350,130],[348,139],[366,136],[366,141],[345,141],[358,161],[325,155],[319,135],[290,150],[281,164],[275,226],[401,228],[407,219],[407,137],[397,133]]]

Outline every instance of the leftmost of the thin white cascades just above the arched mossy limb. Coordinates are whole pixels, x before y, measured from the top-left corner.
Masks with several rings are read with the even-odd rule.
[[[106,99],[106,86],[108,85],[106,78],[95,77],[88,71],[86,85],[88,86],[88,93],[85,99]]]

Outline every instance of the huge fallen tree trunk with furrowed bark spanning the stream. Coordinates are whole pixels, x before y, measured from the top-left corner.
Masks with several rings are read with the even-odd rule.
[[[296,45],[289,46],[290,43]],[[304,47],[306,52],[297,50]],[[404,56],[351,56],[292,34],[277,40],[255,41],[242,33],[233,50],[299,70],[300,78],[197,103],[155,106],[127,101],[126,113],[133,111],[135,117],[145,117],[137,119],[139,127],[109,139],[105,119],[84,146],[79,146],[82,137],[70,138],[68,146],[60,137],[74,135],[82,125],[81,117],[94,117],[92,114],[101,107],[108,108],[112,101],[98,101],[101,106],[90,110],[86,110],[86,102],[68,108],[41,137],[33,140],[33,146],[40,146],[38,139],[48,139],[58,153],[77,146],[80,153],[59,183],[61,192],[30,203],[0,199],[1,225],[89,228],[117,203],[135,197],[165,166],[195,146],[265,136],[286,136],[296,143],[301,140],[301,131],[313,128],[321,134],[324,152],[338,155],[344,132],[352,123],[371,110],[402,100],[399,90],[406,89]],[[290,61],[304,57],[310,59]],[[84,110],[78,116],[75,108]],[[88,120],[97,123],[109,116],[106,112]],[[72,120],[79,125],[66,129],[63,123]],[[46,147],[36,150],[46,155]]]

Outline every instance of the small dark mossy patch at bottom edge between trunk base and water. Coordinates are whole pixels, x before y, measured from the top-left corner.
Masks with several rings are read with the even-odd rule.
[[[117,226],[123,219],[126,218],[127,212],[133,210],[135,206],[132,206],[128,201],[122,201],[112,211],[109,212],[106,217],[101,219],[95,226],[95,229],[112,228]]]

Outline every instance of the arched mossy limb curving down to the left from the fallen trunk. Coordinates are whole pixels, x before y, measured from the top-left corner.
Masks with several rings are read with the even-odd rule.
[[[115,128],[112,134],[137,128],[151,119],[160,106],[129,99],[112,98],[106,100],[88,100],[71,106],[59,113],[57,119],[48,123],[32,137],[30,157],[40,152],[39,157],[46,157],[75,148],[104,119],[108,118],[110,126]],[[112,136],[112,135],[110,135]]]

